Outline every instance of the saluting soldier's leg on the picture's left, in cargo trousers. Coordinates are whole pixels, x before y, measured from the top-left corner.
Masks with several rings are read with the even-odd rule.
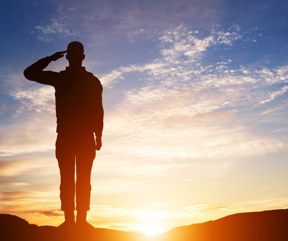
[[[61,176],[61,210],[65,213],[65,220],[68,216],[72,220],[75,210],[75,150],[69,145],[69,141],[65,141],[65,137],[60,133],[57,136],[56,158]]]

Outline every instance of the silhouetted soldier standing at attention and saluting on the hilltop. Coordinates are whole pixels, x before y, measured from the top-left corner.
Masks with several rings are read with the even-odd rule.
[[[58,72],[43,71],[51,61],[66,54],[69,67]],[[97,77],[82,67],[84,47],[79,42],[68,44],[67,51],[40,59],[24,71],[28,80],[55,87],[58,160],[61,185],[61,209],[65,222],[59,227],[75,225],[75,157],[76,157],[76,227],[94,228],[86,222],[90,209],[90,177],[95,149],[102,146],[103,130],[102,85]],[[96,145],[94,134],[96,136]]]

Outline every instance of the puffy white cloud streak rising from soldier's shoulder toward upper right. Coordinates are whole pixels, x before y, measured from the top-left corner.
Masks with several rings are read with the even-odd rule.
[[[197,75],[207,70],[207,68],[191,68],[191,64],[201,59],[208,47],[221,44],[232,45],[238,39],[241,39],[241,35],[238,33],[223,32],[216,29],[211,29],[209,36],[200,39],[184,26],[179,26],[171,31],[163,32],[162,36],[159,37],[158,45],[161,48],[161,59],[156,59],[142,66],[120,67],[108,75],[101,76],[100,80],[103,86],[110,86],[121,79],[123,80],[124,73],[143,72],[148,76],[152,76],[154,81],[161,80],[165,76],[168,77],[171,84],[176,84],[177,80],[187,82],[191,80],[192,75]],[[181,61],[181,56],[186,56],[187,59]],[[196,65],[196,63],[194,64]],[[175,80],[171,81],[172,79]],[[148,78],[148,80],[151,80],[151,78]]]

